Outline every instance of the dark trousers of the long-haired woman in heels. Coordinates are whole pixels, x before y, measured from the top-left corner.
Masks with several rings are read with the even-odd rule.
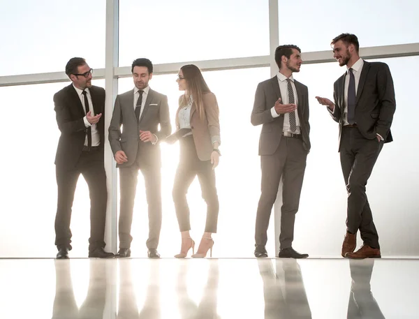
[[[189,186],[191,186],[196,176],[198,176],[203,199],[207,203],[205,232],[214,233],[216,232],[219,215],[219,199],[216,193],[215,172],[212,169],[211,161],[200,161],[196,153],[193,136],[188,135],[180,139],[179,165],[172,191],[177,222],[179,223],[181,232],[191,230],[186,193],[188,193]]]

